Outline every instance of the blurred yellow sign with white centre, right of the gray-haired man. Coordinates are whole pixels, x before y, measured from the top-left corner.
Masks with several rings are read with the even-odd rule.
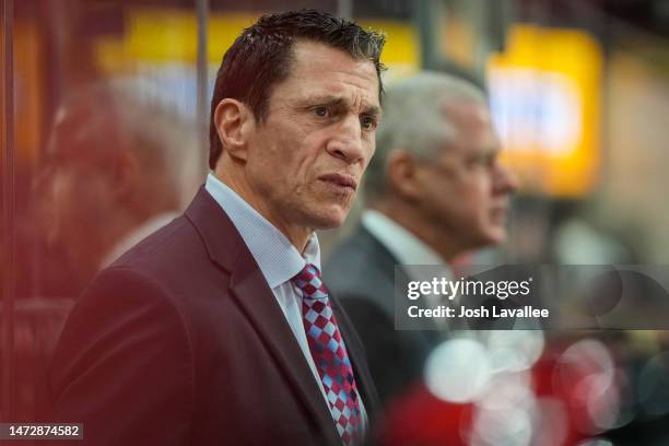
[[[489,66],[504,161],[527,191],[583,196],[600,166],[601,49],[576,30],[514,25],[508,37]]]

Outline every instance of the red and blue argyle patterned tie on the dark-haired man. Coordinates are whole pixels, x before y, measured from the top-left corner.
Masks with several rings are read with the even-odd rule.
[[[353,368],[320,272],[308,263],[292,279],[302,291],[302,317],[312,357],[344,445],[360,443],[362,418]]]

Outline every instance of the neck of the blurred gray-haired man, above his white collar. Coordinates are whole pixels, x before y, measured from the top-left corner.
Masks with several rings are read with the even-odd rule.
[[[435,227],[429,216],[423,215],[419,209],[403,200],[390,198],[380,199],[371,206],[372,209],[384,213],[400,226],[423,240],[434,249],[447,263],[461,253],[456,240],[444,234],[443,227]]]

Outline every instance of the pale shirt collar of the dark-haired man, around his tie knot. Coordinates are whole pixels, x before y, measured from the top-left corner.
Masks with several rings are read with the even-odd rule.
[[[219,178],[209,174],[204,189],[233,222],[271,289],[294,278],[306,263],[320,270],[320,246],[312,233],[301,255],[281,231]]]

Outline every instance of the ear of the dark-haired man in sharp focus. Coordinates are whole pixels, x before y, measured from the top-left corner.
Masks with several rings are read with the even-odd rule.
[[[233,159],[246,161],[248,138],[256,125],[251,110],[239,101],[225,98],[216,105],[214,125],[223,144],[223,152]]]

